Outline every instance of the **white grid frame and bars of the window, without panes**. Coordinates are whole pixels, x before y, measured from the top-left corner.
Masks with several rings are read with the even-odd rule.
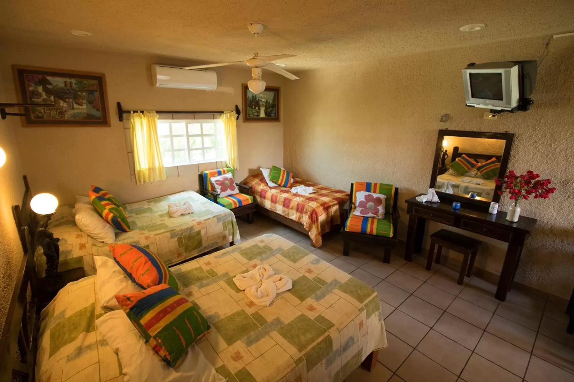
[[[160,129],[158,128],[158,138],[161,139],[162,138],[169,138],[170,140],[170,149],[168,149],[167,151],[169,151],[169,153],[172,154],[172,163],[165,163],[164,161],[164,167],[176,167],[176,166],[184,166],[184,165],[194,165],[196,163],[211,163],[211,162],[218,162],[218,161],[226,161],[227,160],[227,149],[226,149],[226,145],[225,145],[225,140],[223,137],[223,122],[219,119],[160,119],[158,120],[158,125],[159,124],[169,124],[169,135],[160,135]],[[172,124],[176,123],[176,124],[180,124],[180,123],[185,123],[185,134],[173,134],[173,130],[172,130]],[[189,134],[189,124],[201,124],[201,134]],[[203,124],[204,123],[213,123],[215,124],[215,130],[213,134],[204,134],[203,131]],[[218,130],[220,130],[220,132],[222,134],[218,134]],[[173,138],[184,138],[185,137],[185,142],[187,143],[187,147],[184,149],[174,149],[173,147]],[[193,148],[189,146],[189,138],[192,137],[201,137],[201,148]],[[204,145],[204,138],[203,137],[214,137],[214,146],[209,146],[209,147],[203,147]],[[218,153],[218,147],[220,148],[221,152]],[[216,157],[212,158],[212,159],[205,159],[205,150],[207,149],[215,149],[216,152]],[[162,157],[164,157],[165,154],[165,149],[161,150],[161,143],[160,143],[160,151],[161,151],[161,155]],[[175,153],[176,151],[187,151],[187,161],[184,162],[176,162],[175,161]],[[192,151],[202,151],[202,156],[203,159],[201,159],[200,161],[194,161],[192,159],[191,153]],[[219,154],[219,155],[218,155]]]

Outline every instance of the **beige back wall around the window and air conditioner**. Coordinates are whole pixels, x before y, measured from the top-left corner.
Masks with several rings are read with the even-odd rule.
[[[61,204],[74,201],[75,194],[87,194],[91,184],[113,193],[122,202],[144,200],[181,190],[197,189],[197,171],[216,163],[193,165],[165,181],[136,185],[131,180],[123,132],[116,102],[126,109],[146,110],[234,110],[241,106],[241,84],[250,79],[249,68],[215,68],[218,85],[226,91],[165,89],[152,87],[150,64],[184,65],[189,62],[136,54],[94,50],[8,45],[0,57],[3,73],[2,101],[16,100],[11,76],[12,64],[46,68],[102,72],[106,75],[111,127],[20,127],[13,119],[22,166],[34,192],[51,192]],[[282,85],[281,76],[266,72],[269,85]],[[282,165],[282,123],[237,123],[239,146],[238,180],[259,166]]]

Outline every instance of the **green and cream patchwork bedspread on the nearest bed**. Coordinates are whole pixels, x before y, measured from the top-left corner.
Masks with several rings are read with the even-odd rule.
[[[232,277],[260,264],[293,289],[255,305]],[[212,329],[197,344],[229,381],[342,382],[387,346],[377,293],[286,239],[267,234],[172,267]],[[121,365],[94,330],[94,278],[68,284],[42,311],[40,381],[121,380]],[[117,379],[115,379],[117,378]]]

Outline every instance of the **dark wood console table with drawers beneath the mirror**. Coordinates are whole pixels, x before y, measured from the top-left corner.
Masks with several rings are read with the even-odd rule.
[[[409,262],[413,259],[413,254],[422,251],[422,239],[427,220],[508,243],[495,296],[500,301],[505,301],[510,284],[514,280],[522,248],[536,225],[536,219],[521,216],[516,223],[511,223],[506,221],[506,212],[499,211],[493,215],[468,206],[453,210],[452,201],[448,200],[439,203],[422,203],[416,200],[416,197],[412,197],[406,200],[406,204],[409,228],[406,235],[405,260]]]

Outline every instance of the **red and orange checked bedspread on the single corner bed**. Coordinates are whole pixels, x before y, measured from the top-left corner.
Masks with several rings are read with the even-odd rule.
[[[301,223],[309,231],[309,237],[315,247],[323,244],[321,233],[328,232],[333,225],[342,223],[340,211],[343,211],[350,197],[346,191],[298,178],[294,178],[292,187],[313,187],[315,192],[305,196],[292,193],[285,187],[270,188],[261,173],[245,178],[242,183],[251,186],[255,201],[263,208]]]

